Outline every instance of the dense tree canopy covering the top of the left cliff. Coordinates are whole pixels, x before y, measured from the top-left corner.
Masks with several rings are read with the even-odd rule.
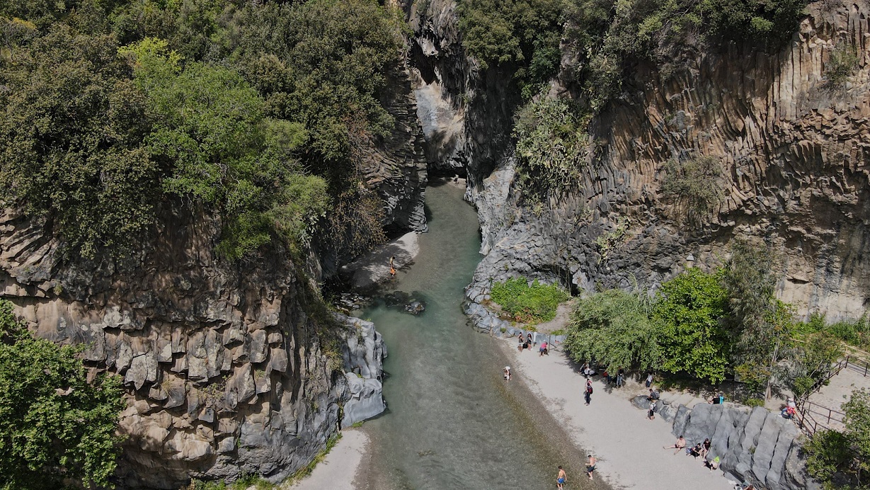
[[[173,203],[218,218],[225,258],[315,235],[366,251],[383,205],[361,167],[394,125],[403,26],[375,0],[4,3],[3,204],[86,257],[141,247]]]

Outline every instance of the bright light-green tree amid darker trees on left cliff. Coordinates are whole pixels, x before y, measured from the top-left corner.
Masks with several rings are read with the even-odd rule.
[[[305,130],[264,118],[264,101],[236,71],[190,63],[167,43],[146,38],[124,50],[137,86],[149,95],[154,121],[146,144],[171,174],[164,190],[215,205],[226,218],[218,252],[236,259],[279,232],[290,245],[305,239],[325,212],[326,185],[292,157]]]

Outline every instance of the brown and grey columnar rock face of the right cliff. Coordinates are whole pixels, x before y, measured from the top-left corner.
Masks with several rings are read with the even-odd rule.
[[[781,299],[829,319],[860,315],[870,298],[870,6],[809,10],[773,54],[730,45],[686,60],[690,70],[673,78],[633,70],[623,97],[593,120],[601,149],[566,196],[519,206],[512,158],[472,179],[488,254],[470,298],[518,274],[587,291],[655,288],[690,254],[694,265],[720,265],[732,238],[751,236],[780,254]],[[856,47],[859,64],[837,87],[826,66],[840,44]],[[706,155],[723,164],[726,198],[697,226],[661,183],[669,160]]]

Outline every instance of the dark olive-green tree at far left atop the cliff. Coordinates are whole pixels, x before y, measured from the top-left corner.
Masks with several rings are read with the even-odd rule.
[[[130,77],[111,37],[62,24],[0,64],[0,185],[88,257],[136,244],[155,221],[147,102]]]

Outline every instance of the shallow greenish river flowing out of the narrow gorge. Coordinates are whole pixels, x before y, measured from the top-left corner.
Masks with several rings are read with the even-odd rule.
[[[389,410],[365,423],[365,488],[555,488],[556,465],[565,460],[564,444],[541,421],[549,416],[531,415],[542,411],[529,408],[514,382],[505,386],[496,340],[475,332],[461,310],[480,259],[477,214],[462,195],[453,185],[427,188],[429,232],[419,237],[416,263],[391,285],[422,292],[425,312],[414,317],[384,305],[357,312],[384,334],[390,373]]]

